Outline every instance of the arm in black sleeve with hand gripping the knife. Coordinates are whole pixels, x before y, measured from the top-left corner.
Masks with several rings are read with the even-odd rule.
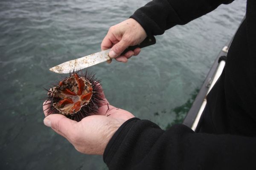
[[[102,40],[101,48],[111,48],[109,56],[127,62],[140,48],[119,56],[128,46],[137,45],[147,35],[163,34],[166,29],[183,25],[233,0],[153,0],[130,17],[112,26]]]

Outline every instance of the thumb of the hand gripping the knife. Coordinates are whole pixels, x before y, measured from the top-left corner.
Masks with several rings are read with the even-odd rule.
[[[125,38],[122,38],[119,42],[117,42],[111,50],[109,51],[109,57],[116,58],[118,57],[123,51],[125,51],[128,46],[131,45],[131,41]]]

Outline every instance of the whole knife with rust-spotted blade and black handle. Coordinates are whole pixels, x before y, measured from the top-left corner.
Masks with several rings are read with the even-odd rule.
[[[122,52],[122,54],[125,54],[126,52],[128,52],[130,50],[133,51],[135,48],[143,48],[143,47],[147,47],[149,45],[153,45],[155,43],[156,43],[155,37],[148,36],[140,44],[134,45],[134,46],[129,46],[128,48],[126,48],[125,51]],[[49,70],[53,71],[55,73],[60,73],[60,74],[70,73],[70,71],[73,71],[73,70],[81,70],[83,68],[87,68],[92,65],[96,65],[101,62],[110,60],[111,58],[108,56],[109,51],[110,51],[110,49],[100,51],[100,52],[97,52],[94,54],[90,54],[88,56],[81,57],[78,59],[73,59],[73,60],[70,60],[67,62],[63,62],[62,64],[56,65],[55,67],[52,67]]]

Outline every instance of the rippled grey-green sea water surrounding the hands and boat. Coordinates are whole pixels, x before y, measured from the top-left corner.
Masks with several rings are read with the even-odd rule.
[[[100,51],[108,28],[146,0],[0,1],[0,169],[105,170],[44,126],[42,98],[65,75],[49,68]],[[244,17],[246,0],[221,5],[157,36],[128,63],[88,68],[111,105],[166,129],[182,122],[223,45]]]

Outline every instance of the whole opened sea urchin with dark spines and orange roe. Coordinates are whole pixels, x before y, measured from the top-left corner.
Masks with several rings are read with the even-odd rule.
[[[94,74],[73,71],[70,77],[48,90],[48,100],[51,106],[47,116],[59,113],[79,122],[97,113],[102,102],[102,89]]]

